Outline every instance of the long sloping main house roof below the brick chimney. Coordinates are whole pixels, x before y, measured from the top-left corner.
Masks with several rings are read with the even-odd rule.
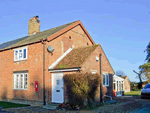
[[[22,38],[13,40],[13,41],[5,42],[3,44],[0,44],[0,49],[15,47],[18,45],[28,44],[28,43],[35,42],[35,41],[38,41],[41,39],[45,39],[45,38],[57,33],[58,31],[70,26],[71,24],[73,24],[75,22],[77,22],[77,21],[74,21],[74,22],[59,26],[59,27],[55,27],[52,29],[48,29],[48,30],[39,32],[35,35],[25,36],[25,37],[22,37]]]

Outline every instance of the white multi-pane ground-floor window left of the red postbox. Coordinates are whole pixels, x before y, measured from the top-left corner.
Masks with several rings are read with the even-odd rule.
[[[14,89],[27,89],[28,87],[27,73],[14,73]]]

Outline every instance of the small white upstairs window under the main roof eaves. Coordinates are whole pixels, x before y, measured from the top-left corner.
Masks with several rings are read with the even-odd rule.
[[[27,59],[27,47],[18,48],[14,50],[14,61]]]

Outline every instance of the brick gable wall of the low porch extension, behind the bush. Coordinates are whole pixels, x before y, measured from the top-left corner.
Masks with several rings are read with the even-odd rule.
[[[87,58],[86,62],[82,65],[83,72],[91,72],[92,70],[97,70],[97,73],[100,73],[100,61],[96,61],[96,56],[99,57],[99,54],[102,54],[102,73],[109,74],[109,86],[107,86],[107,95],[113,96],[113,69],[111,68],[109,61],[102,50],[101,46],[98,46],[93,53]],[[101,77],[102,84],[103,84],[103,76]],[[105,86],[104,86],[105,87]],[[97,92],[100,89],[98,88]],[[97,94],[96,98],[99,100],[99,94]]]

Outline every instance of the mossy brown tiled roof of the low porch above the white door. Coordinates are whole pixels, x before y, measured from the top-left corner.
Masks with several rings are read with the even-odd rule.
[[[86,58],[88,58],[98,45],[74,48],[53,69],[81,67]]]

